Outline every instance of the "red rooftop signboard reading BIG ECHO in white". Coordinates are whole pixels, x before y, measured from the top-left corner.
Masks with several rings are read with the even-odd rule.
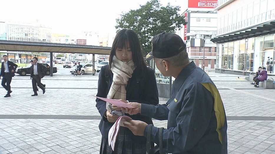
[[[188,8],[216,8],[218,0],[188,0]]]

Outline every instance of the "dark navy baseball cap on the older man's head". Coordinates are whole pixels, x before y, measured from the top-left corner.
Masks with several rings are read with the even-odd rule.
[[[179,35],[174,33],[160,33],[152,39],[152,51],[148,53],[145,60],[156,58],[169,58],[178,55],[186,48],[185,43]]]

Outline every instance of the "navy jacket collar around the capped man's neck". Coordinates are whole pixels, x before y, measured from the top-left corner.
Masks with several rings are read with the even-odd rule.
[[[196,68],[196,64],[194,61],[190,62],[188,65],[186,65],[178,74],[178,77],[175,79],[173,85],[177,89],[177,91],[180,89],[181,85],[185,81],[185,79],[190,75],[190,73]]]

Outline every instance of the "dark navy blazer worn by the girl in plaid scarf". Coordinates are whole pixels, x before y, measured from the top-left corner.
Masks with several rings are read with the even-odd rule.
[[[106,70],[105,70],[105,67]],[[110,77],[108,78],[108,87],[106,83],[105,71],[109,71],[109,66],[102,66],[100,69],[99,79],[98,79],[98,87],[97,87],[97,96],[98,97],[107,97],[107,92],[110,90],[110,87],[113,82],[113,73],[110,71]],[[126,100],[130,102],[138,102],[142,104],[158,104],[158,88],[156,84],[155,72],[151,68],[147,67],[147,71],[145,73],[145,77],[143,79],[136,78],[136,72],[134,71],[132,77],[129,78],[127,86],[126,86]],[[107,91],[108,88],[108,91]],[[105,118],[104,113],[107,111],[106,109],[106,101],[101,99],[96,99],[97,109],[102,117],[99,129],[102,134],[102,137],[108,140],[108,132],[114,123],[111,123]],[[129,115],[126,116],[131,117],[134,120],[144,121],[147,124],[153,124],[152,118],[148,116],[142,116],[140,114],[137,115]],[[146,138],[144,136],[135,136],[132,131],[125,127],[125,131],[129,134],[134,142],[146,142]]]

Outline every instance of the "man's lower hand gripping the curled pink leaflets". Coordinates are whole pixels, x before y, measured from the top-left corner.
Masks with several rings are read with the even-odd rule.
[[[125,127],[129,128],[135,135],[144,136],[145,127],[148,125],[147,123],[139,120],[130,120],[128,122],[130,122],[133,126],[124,123]]]

